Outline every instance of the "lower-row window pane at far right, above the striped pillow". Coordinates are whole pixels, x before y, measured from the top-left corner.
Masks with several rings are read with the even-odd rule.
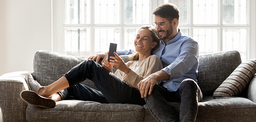
[[[223,51],[237,50],[242,61],[246,60],[247,29],[223,29]]]

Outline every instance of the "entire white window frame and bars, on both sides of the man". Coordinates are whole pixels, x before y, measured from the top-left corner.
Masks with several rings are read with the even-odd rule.
[[[256,57],[256,1],[255,0],[248,0],[247,2],[247,16],[248,16],[248,24],[246,25],[223,25],[222,24],[222,1],[218,0],[219,4],[219,23],[217,25],[193,25],[193,0],[189,1],[189,24],[179,24],[179,28],[186,28],[189,29],[189,35],[193,37],[193,29],[205,29],[205,28],[216,28],[218,29],[218,52],[222,51],[222,29],[233,29],[233,28],[239,28],[239,29],[247,29],[247,59],[252,59]],[[94,24],[94,2],[91,0],[91,9],[93,10],[91,12],[91,23],[92,25],[68,25],[64,24],[64,1],[63,0],[52,0],[52,51],[65,53],[64,51],[64,30],[65,28],[120,28],[121,35],[120,40],[124,40],[124,28],[139,28],[142,26],[142,24],[124,24],[124,16],[122,13],[122,8],[124,7],[123,0],[120,0],[121,6],[120,6],[120,24],[116,25],[103,25],[103,24]],[[160,4],[163,3],[163,0],[150,0],[151,3],[151,10],[150,13],[153,12],[153,10]],[[154,16],[152,15],[150,19],[150,23],[154,21]],[[94,30],[91,30],[91,55],[94,54]],[[120,41],[120,49],[124,49],[124,45],[122,41]]]

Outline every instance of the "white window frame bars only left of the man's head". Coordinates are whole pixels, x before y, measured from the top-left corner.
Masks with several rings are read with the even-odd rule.
[[[90,54],[94,55],[94,30],[96,28],[119,28],[120,40],[124,40],[124,29],[140,28],[145,24],[124,24],[124,0],[120,0],[120,24],[94,24],[94,1],[91,0],[91,24],[64,24],[64,0],[52,0],[52,51],[65,54],[64,31],[72,28],[89,28],[91,29],[90,38]],[[157,7],[157,1],[150,0],[150,13]],[[150,18],[149,24],[154,20],[154,16]],[[120,41],[120,49],[124,49],[123,41]]]

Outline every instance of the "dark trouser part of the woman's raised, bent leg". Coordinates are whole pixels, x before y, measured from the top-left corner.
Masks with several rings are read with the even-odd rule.
[[[86,78],[90,79],[110,103],[130,103],[144,105],[139,90],[127,85],[104,67],[92,60],[86,60],[64,75],[69,86],[74,86]]]

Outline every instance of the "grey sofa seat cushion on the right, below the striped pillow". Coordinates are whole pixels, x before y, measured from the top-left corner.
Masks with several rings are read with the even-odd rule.
[[[213,95],[207,97],[208,101],[198,103],[196,122],[249,122],[256,120],[256,104],[243,97],[227,97],[214,99]],[[179,118],[180,102],[169,102],[175,115]],[[157,122],[151,116],[148,105],[144,105],[144,122]]]

